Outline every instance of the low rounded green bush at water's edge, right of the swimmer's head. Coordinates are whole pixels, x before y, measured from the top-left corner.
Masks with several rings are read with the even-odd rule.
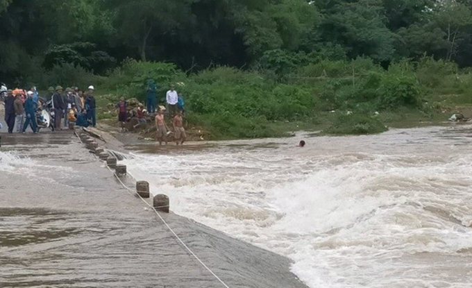
[[[375,117],[365,114],[346,115],[337,113],[332,124],[324,132],[334,135],[362,135],[387,131],[388,128]]]

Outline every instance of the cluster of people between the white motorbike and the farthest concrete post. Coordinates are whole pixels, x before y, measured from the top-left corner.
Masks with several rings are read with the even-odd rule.
[[[94,97],[94,86],[90,85],[87,92],[78,87],[67,87],[65,92],[62,86],[56,89],[49,87],[51,93],[51,104],[54,112],[54,128],[62,129],[69,126],[69,121],[76,122],[78,126],[96,126],[96,101]]]

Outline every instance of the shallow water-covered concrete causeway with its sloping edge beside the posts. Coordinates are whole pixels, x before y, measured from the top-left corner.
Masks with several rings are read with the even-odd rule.
[[[0,287],[224,287],[70,131],[1,137]],[[163,217],[229,287],[305,287],[285,257]]]

